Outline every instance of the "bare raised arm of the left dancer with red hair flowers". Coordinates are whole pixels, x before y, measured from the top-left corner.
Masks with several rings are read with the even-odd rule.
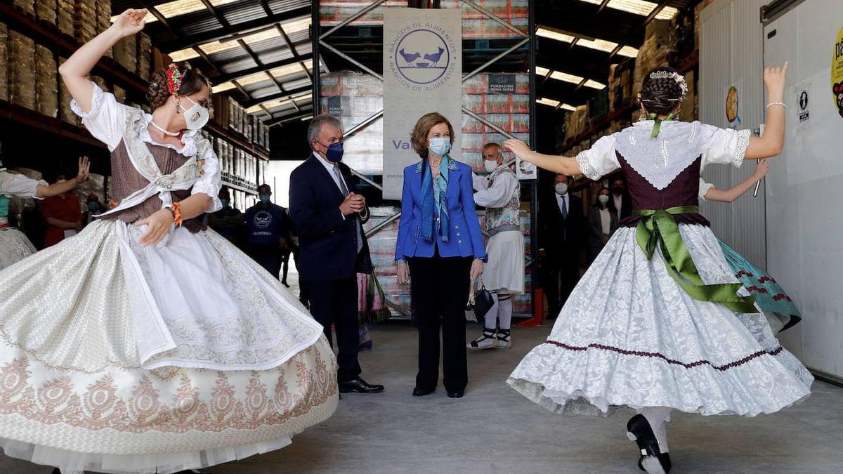
[[[128,9],[123,12],[108,30],[103,31],[93,40],[85,43],[67,61],[58,68],[62,74],[67,90],[76,100],[83,112],[91,110],[93,99],[93,86],[88,74],[99,58],[105,55],[111,46],[126,36],[137,35],[143,30],[143,17],[147,14],[146,9]]]

